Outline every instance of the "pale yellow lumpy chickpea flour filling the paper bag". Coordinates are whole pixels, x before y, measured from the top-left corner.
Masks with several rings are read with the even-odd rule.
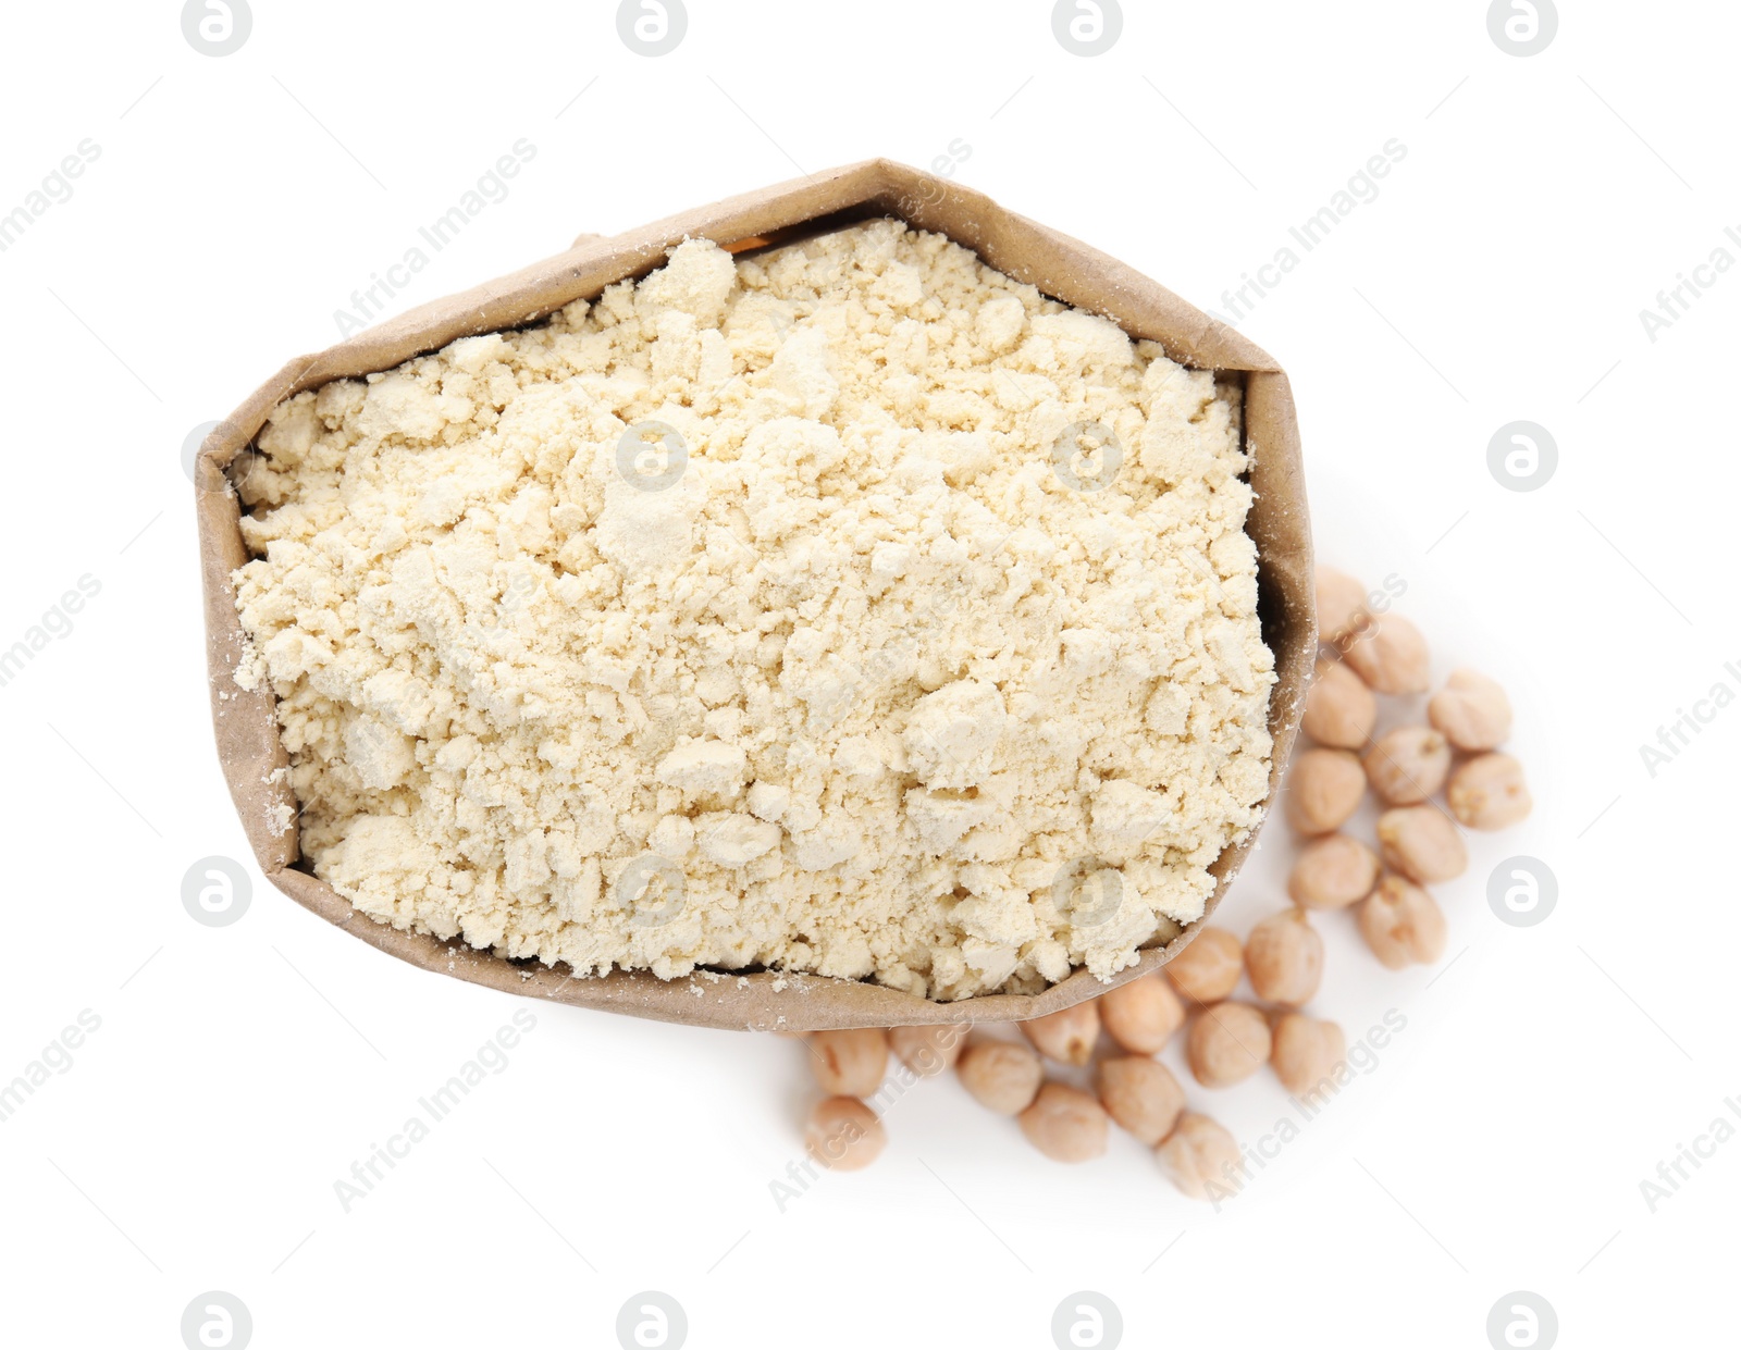
[[[1128,966],[1257,823],[1236,398],[938,235],[686,242],[259,451],[242,619],[380,920],[959,999]]]

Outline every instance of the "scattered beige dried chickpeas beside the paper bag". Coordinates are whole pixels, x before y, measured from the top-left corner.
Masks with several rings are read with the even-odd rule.
[[[918,1077],[954,1068],[975,1101],[1015,1117],[1050,1159],[1100,1157],[1111,1122],[1151,1146],[1179,1190],[1205,1199],[1236,1174],[1241,1152],[1224,1126],[1187,1110],[1179,1079],[1154,1058],[1173,1035],[1184,1028],[1191,1077],[1208,1089],[1267,1065],[1297,1096],[1335,1073],[1348,1051],[1342,1028],[1304,1011],[1323,979],[1313,915],[1353,910],[1389,969],[1436,962],[1445,915],[1426,887],[1468,868],[1462,828],[1516,825],[1530,795],[1523,767],[1499,750],[1511,705],[1494,680],[1455,670],[1428,699],[1426,724],[1381,736],[1381,694],[1429,691],[1426,640],[1402,616],[1374,612],[1365,588],[1332,571],[1318,572],[1318,625],[1323,647],[1301,722],[1314,745],[1295,755],[1283,788],[1283,814],[1301,837],[1294,905],[1243,943],[1222,927],[1200,929],[1163,971],[1018,1023],[1025,1040],[970,1037],[963,1023],[810,1033],[811,1068],[827,1093],[804,1131],[817,1162],[855,1171],[883,1152],[883,1120],[865,1098],[881,1089],[893,1051]],[[1342,832],[1368,790],[1382,804],[1377,847]],[[1259,1002],[1231,999],[1241,976]],[[1046,1061],[1093,1063],[1095,1091],[1050,1079]]]

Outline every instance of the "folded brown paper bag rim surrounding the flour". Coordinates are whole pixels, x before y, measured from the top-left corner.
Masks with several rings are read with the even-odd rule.
[[[569,301],[592,299],[613,282],[641,277],[663,264],[667,251],[686,237],[743,249],[867,216],[898,216],[914,226],[944,233],[999,271],[1067,304],[1102,313],[1133,338],[1161,343],[1168,357],[1184,365],[1213,369],[1243,381],[1247,449],[1254,456],[1250,480],[1257,492],[1247,529],[1257,543],[1264,638],[1276,654],[1278,673],[1269,701],[1269,729],[1274,738],[1274,767],[1269,778],[1273,802],[1294,746],[1316,652],[1311,532],[1299,426],[1287,376],[1238,332],[1210,320],[1123,263],[1005,211],[977,191],[890,160],[869,160],[698,207],[615,238],[583,235],[568,252],[543,263],[421,304],[319,355],[298,357],[205,438],[195,491],[218,759],[254,856],[273,886],[366,943],[427,971],[512,993],[696,1026],[823,1030],[1020,1021],[1057,1012],[1107,988],[1086,971],[1076,971],[1043,993],[984,995],[945,1004],[879,985],[801,974],[709,976],[696,971],[686,979],[663,981],[648,971],[611,971],[576,978],[561,967],[507,960],[458,941],[442,943],[428,934],[400,932],[357,913],[333,887],[315,879],[306,865],[298,865],[296,802],[284,776],[275,772],[289,762],[279,739],[275,698],[265,684],[249,692],[233,678],[244,651],[244,633],[230,574],[247,562],[247,553],[239,524],[240,503],[230,487],[226,468],[252,442],[275,404],[333,379],[388,371],[456,338],[531,324]],[[289,828],[280,826],[286,819],[291,821]],[[1208,901],[1205,919],[1213,913],[1252,842],[1248,839],[1229,847],[1215,863],[1220,884]],[[1114,983],[1163,966],[1201,922],[1170,945],[1144,952],[1142,960],[1123,971]]]

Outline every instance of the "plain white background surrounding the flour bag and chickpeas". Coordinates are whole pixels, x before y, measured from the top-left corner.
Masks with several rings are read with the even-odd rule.
[[[254,0],[214,59],[176,3],[9,7],[0,211],[82,139],[101,157],[0,254],[0,645],[80,576],[101,593],[0,689],[0,1080],[82,1009],[101,1030],[0,1124],[7,1341],[178,1347],[214,1289],[258,1347],[611,1347],[642,1289],[703,1348],[1043,1350],[1081,1289],[1132,1347],[1478,1348],[1518,1289],[1563,1345],[1720,1338],[1741,1141],[1656,1213],[1640,1181],[1741,1126],[1741,712],[1654,778],[1638,746],[1741,691],[1741,275],[1654,343],[1638,311],[1718,245],[1741,257],[1736,10],[1565,3],[1516,57],[1478,0],[1128,3],[1085,59],[1036,0],[691,0],[648,59],[615,9]],[[1407,1030],[1240,1200],[1186,1202],[1128,1138],[1050,1164],[942,1080],[891,1108],[874,1169],[780,1213],[813,1096],[796,1042],[538,1006],[507,1072],[341,1211],[334,1180],[529,1004],[392,962],[258,873],[232,927],[183,910],[188,866],[245,844],[181,445],[334,341],[350,292],[521,137],[512,195],[395,308],[581,230],[959,139],[959,181],[1226,311],[1288,224],[1407,146],[1241,327],[1292,374],[1321,557],[1403,578],[1438,673],[1509,684],[1539,805],[1442,889],[1449,964],[1389,974],[1321,922],[1320,1011]],[[1541,491],[1487,470],[1513,419],[1558,442]],[[1281,901],[1287,852],[1278,823],[1229,926]],[[1537,927],[1485,903],[1511,854],[1558,877]],[[1191,1094],[1247,1143],[1287,1106],[1267,1075]]]

